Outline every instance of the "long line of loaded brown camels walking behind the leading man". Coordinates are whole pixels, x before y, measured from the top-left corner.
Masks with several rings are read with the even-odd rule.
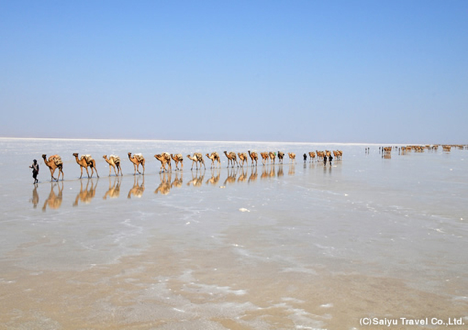
[[[341,160],[341,156],[343,155],[343,151],[309,151],[309,162],[319,162],[323,160],[323,157],[330,157],[333,153],[335,160]],[[98,168],[96,167],[96,160],[92,157],[92,155],[81,155],[79,156],[78,153],[72,154],[75,157],[76,164],[80,166],[80,179],[83,177],[83,168],[86,170],[86,174],[88,178],[92,178],[94,172],[96,172],[96,177],[99,177]],[[141,153],[128,153],[129,160],[132,164],[134,164],[134,175],[145,175],[145,157]],[[257,166],[258,162],[258,153],[256,151],[248,151],[246,153],[235,153],[233,151],[224,151],[224,155],[226,156],[227,160],[227,167],[244,167],[248,166],[249,158],[251,162],[251,166]],[[281,151],[268,151],[260,153],[262,157],[262,165],[266,164],[283,164],[284,156],[286,153]],[[296,162],[296,154],[295,153],[287,153],[290,163]],[[62,175],[63,180],[63,161],[59,155],[52,155],[47,158],[47,155],[42,155],[44,159],[45,165],[50,169],[50,177],[51,181],[58,181],[60,179],[60,175]],[[161,163],[160,173],[171,172],[172,165],[171,162],[175,163],[175,170],[182,170],[184,167],[184,157],[180,153],[172,154],[172,153],[160,153],[154,155],[154,157]],[[211,167],[210,168],[220,168],[221,167],[221,157],[220,154],[216,151],[212,153],[206,153],[205,157],[211,160]],[[198,170],[199,166],[202,169],[206,169],[204,164],[204,159],[202,153],[193,153],[193,155],[187,155],[187,158],[192,161],[191,170],[193,167]],[[121,160],[118,155],[103,155],[103,159],[109,165],[109,177],[111,176],[112,169],[114,169],[114,174],[116,176],[122,176],[123,170],[121,166]],[[304,162],[306,161],[306,154],[304,153]],[[180,164],[180,168],[179,168]],[[140,172],[140,166],[142,167],[142,172]],[[54,177],[55,170],[58,169],[58,176]],[[91,169],[91,174],[89,174],[89,169]]]

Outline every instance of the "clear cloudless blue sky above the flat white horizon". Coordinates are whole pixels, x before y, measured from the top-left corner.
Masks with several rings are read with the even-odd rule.
[[[0,136],[468,143],[468,1],[0,0]]]

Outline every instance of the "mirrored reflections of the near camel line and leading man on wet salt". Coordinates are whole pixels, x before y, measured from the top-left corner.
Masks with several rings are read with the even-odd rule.
[[[287,168],[285,168],[287,166]],[[316,163],[304,163],[304,170],[306,168],[314,169],[316,168]],[[318,166],[318,168],[323,168],[324,174],[331,174],[332,167],[337,166]],[[261,179],[282,179],[284,173],[288,171],[288,176],[296,175],[295,164],[266,164],[261,168]],[[196,187],[200,188],[204,185],[206,186],[219,186],[220,188],[225,188],[233,184],[242,184],[248,183],[252,184],[257,181],[259,176],[257,166],[239,166],[239,167],[228,167],[228,168],[211,168],[211,170],[205,170],[204,168],[198,170],[191,170],[190,175],[191,179],[187,181],[184,186],[187,187]],[[183,171],[177,170],[173,172],[163,172],[158,173],[156,177],[159,176],[159,180],[154,182],[151,180],[151,184],[156,186],[154,193],[157,195],[169,195],[173,188],[182,188],[183,182]],[[146,177],[151,177],[147,175]],[[102,180],[102,179],[101,179]],[[100,193],[103,194],[103,200],[109,199],[118,199],[120,197],[120,190],[122,184],[125,180],[127,185],[130,184],[129,177],[109,177],[109,184],[107,190],[103,190]],[[56,210],[61,207],[63,199],[63,186],[69,185],[69,190],[73,190],[76,187],[76,184],[79,182],[79,192],[74,196],[73,206],[78,206],[80,204],[91,203],[92,199],[96,196],[96,191],[98,190],[98,181],[99,179],[80,179],[78,181],[62,181],[60,183],[51,183],[50,192],[48,192],[48,197],[45,199],[43,210],[47,208]],[[39,195],[41,192],[40,185],[34,185],[32,190],[32,198],[30,198],[30,203],[32,203],[33,208],[36,208],[39,203]],[[125,187],[124,187],[125,189]],[[131,197],[140,198],[145,192],[145,177],[144,176],[133,176],[133,183],[128,187],[129,191],[127,198]],[[66,199],[67,197],[65,197]],[[72,197],[73,198],[73,197]]]

